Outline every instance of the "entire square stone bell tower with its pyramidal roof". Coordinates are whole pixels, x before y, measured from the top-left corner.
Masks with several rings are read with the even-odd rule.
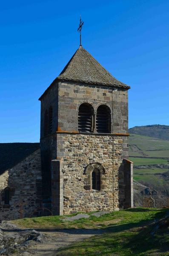
[[[40,97],[43,204],[53,214],[133,206],[129,88],[80,46]]]

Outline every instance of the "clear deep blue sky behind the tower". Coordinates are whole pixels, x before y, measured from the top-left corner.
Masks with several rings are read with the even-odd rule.
[[[131,86],[129,127],[169,125],[169,1],[2,1],[0,142],[38,142],[39,96],[82,44]]]

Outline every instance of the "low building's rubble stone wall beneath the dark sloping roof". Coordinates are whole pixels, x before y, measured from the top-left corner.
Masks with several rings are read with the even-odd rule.
[[[40,150],[0,175],[0,219],[20,218],[20,198],[24,202],[23,217],[31,216],[41,203],[41,181]],[[11,190],[9,205],[4,205],[6,187]]]

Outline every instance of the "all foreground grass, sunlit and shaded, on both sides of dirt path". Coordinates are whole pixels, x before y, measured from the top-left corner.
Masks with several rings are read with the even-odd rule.
[[[100,229],[100,234],[69,247],[61,248],[56,256],[166,256],[169,255],[169,227],[155,232],[155,222],[163,218],[168,209],[134,208],[111,212],[100,217],[91,216],[76,221],[63,221],[63,216],[26,218],[12,221],[26,228],[71,230]],[[71,229],[71,230],[70,230]],[[70,230],[70,231],[69,231]]]

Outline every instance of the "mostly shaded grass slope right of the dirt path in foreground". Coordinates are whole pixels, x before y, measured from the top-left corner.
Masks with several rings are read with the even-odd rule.
[[[143,208],[113,212],[106,217],[116,216],[123,220],[107,228],[100,236],[60,249],[56,256],[169,255],[169,229],[160,230],[151,236],[152,227],[147,226],[165,214],[166,209]]]

